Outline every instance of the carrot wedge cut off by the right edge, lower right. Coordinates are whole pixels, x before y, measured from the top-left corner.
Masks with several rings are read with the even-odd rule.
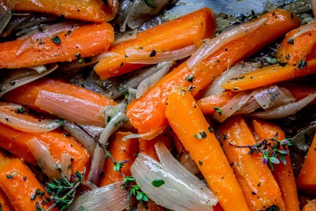
[[[316,195],[316,135],[306,154],[303,166],[298,174],[296,185],[300,192]]]

